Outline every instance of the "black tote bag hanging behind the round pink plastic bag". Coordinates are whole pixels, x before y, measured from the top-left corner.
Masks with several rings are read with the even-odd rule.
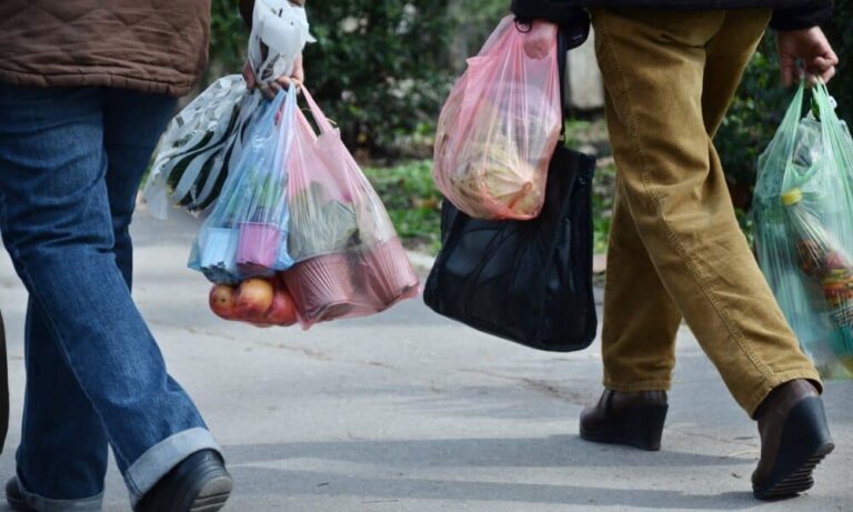
[[[442,248],[424,285],[433,311],[533,349],[590,345],[592,175],[595,159],[559,144],[542,213],[528,221],[472,219],[444,201]]]

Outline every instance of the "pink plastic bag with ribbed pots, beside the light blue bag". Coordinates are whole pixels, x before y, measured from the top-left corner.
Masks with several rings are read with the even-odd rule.
[[[363,317],[418,294],[418,275],[382,201],[308,90],[320,129],[297,111],[288,169],[288,250],[281,275],[303,329]]]

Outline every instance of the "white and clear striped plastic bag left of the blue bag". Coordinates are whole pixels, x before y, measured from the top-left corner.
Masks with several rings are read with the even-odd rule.
[[[165,219],[171,207],[209,208],[239,158],[261,97],[239,74],[222,77],[181,110],[160,139],[143,197]]]

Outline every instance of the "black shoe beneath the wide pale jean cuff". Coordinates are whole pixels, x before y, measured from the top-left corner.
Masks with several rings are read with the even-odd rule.
[[[201,450],[168,472],[139,501],[136,512],[215,512],[233,481],[219,453]]]

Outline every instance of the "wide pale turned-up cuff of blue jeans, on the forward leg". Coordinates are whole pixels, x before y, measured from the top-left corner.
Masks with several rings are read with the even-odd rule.
[[[179,462],[208,449],[222,453],[210,431],[201,426],[172,434],[149,448],[124,473],[131,505],[136,508],[139,500]]]

